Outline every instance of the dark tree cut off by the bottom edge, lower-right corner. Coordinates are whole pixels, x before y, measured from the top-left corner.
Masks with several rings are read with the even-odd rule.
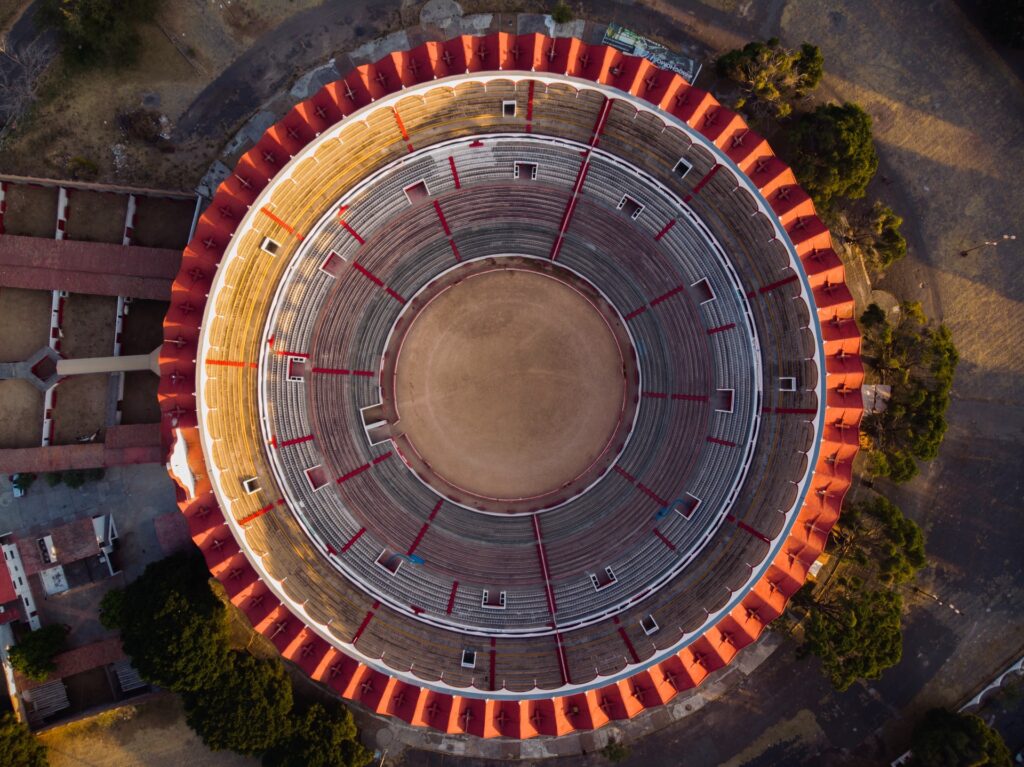
[[[1002,736],[973,714],[932,709],[913,728],[911,767],[1010,767]]]

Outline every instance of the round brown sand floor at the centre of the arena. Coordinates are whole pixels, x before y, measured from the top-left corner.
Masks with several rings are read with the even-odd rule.
[[[416,316],[397,361],[398,427],[452,484],[534,498],[603,454],[624,366],[604,318],[575,290],[532,271],[484,272]]]

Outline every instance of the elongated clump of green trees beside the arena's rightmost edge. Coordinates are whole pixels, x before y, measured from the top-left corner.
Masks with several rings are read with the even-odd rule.
[[[861,425],[874,450],[886,454],[872,458],[871,469],[906,481],[918,473],[916,461],[939,453],[959,355],[948,328],[931,327],[919,303],[903,303],[896,326],[864,324],[864,341],[867,360],[893,387],[888,409],[865,416]]]

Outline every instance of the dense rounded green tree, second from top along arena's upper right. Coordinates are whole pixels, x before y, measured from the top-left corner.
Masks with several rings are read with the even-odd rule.
[[[802,115],[793,127],[793,170],[814,202],[864,196],[879,168],[871,118],[855,103],[826,104]]]

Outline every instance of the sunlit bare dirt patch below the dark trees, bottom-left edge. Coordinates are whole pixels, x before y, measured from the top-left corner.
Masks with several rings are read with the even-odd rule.
[[[256,767],[255,759],[207,749],[185,724],[176,695],[160,694],[135,706],[56,727],[40,739],[51,767]]]

